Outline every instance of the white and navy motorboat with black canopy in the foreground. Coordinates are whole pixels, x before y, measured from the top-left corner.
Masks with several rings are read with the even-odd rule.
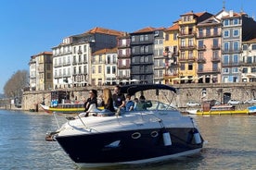
[[[87,167],[147,164],[200,152],[204,140],[194,119],[173,108],[173,87],[121,87],[122,93],[134,97],[136,92],[141,95],[146,91],[155,92],[167,102],[147,101],[152,105],[145,110],[119,111],[111,116],[77,115],[52,132],[53,138],[73,162]]]

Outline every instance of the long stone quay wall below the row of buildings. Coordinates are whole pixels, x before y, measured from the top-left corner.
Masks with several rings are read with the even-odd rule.
[[[186,103],[193,101],[201,103],[208,100],[217,100],[220,103],[226,103],[226,99],[236,99],[244,102],[255,98],[256,83],[215,83],[215,84],[175,84],[174,88],[178,90],[176,97],[173,98],[173,103],[176,103],[179,108],[186,108]],[[59,89],[58,91],[70,91],[70,102],[83,103],[89,96],[88,91],[95,89],[98,91],[98,96],[102,94],[102,90],[109,88],[113,90],[113,86],[88,86],[83,88]],[[157,96],[155,91],[145,92],[147,99],[164,100],[165,96],[170,93],[160,93]],[[228,96],[226,98],[226,96]],[[139,96],[135,96],[139,97]],[[22,110],[43,111],[39,103],[45,99],[45,105],[51,103],[51,91],[24,91],[22,98]]]

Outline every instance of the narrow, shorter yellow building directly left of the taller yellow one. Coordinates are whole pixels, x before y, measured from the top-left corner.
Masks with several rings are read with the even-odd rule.
[[[163,42],[164,50],[163,55],[165,57],[165,74],[164,84],[173,84],[173,79],[179,77],[179,70],[177,65],[178,53],[178,33],[179,25],[174,23],[173,26],[164,30],[165,41]]]

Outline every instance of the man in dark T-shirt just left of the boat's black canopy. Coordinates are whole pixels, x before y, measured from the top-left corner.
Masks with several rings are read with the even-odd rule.
[[[125,97],[120,91],[120,86],[115,86],[113,94],[113,103],[115,110],[124,110],[125,108]]]

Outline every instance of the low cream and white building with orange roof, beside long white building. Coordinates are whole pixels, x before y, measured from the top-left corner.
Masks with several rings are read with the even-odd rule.
[[[92,85],[116,83],[117,48],[98,50],[92,55]]]

